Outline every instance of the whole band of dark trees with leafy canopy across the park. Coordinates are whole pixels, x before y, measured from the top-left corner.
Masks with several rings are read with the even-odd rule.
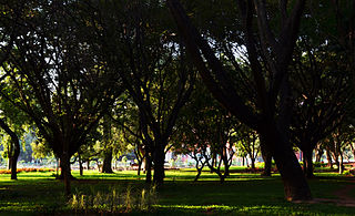
[[[0,10],[11,169],[36,128],[67,194],[73,155],[100,154],[112,172],[112,155],[131,148],[146,182],[162,184],[169,150],[224,179],[236,150],[254,158],[260,145],[286,198],[310,199],[314,150],[341,161],[354,150],[354,2],[1,0]]]

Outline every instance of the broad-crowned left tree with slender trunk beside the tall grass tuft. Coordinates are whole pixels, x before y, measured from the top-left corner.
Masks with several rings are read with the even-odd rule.
[[[1,27],[4,32],[16,31],[11,54],[1,65],[9,84],[0,94],[36,123],[60,158],[69,194],[70,157],[122,88],[100,59],[94,43],[98,35],[85,33],[89,18],[80,13],[80,3],[33,0],[20,9],[16,6],[11,1],[4,4],[19,20],[13,21],[14,27]],[[17,92],[19,99],[10,97],[9,91]]]

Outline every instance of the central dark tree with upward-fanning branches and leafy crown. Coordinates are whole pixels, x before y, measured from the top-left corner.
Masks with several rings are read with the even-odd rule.
[[[139,109],[145,155],[152,155],[154,163],[153,181],[162,184],[165,151],[192,92],[194,73],[183,47],[159,17],[164,11],[159,2],[114,1],[93,7],[101,11],[95,19],[102,23],[108,65],[120,75]]]

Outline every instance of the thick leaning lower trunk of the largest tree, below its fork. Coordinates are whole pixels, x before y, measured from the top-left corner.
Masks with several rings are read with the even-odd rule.
[[[290,142],[285,141],[272,125],[265,126],[263,132],[263,137],[273,153],[282,176],[285,198],[287,200],[311,199],[311,189]]]

